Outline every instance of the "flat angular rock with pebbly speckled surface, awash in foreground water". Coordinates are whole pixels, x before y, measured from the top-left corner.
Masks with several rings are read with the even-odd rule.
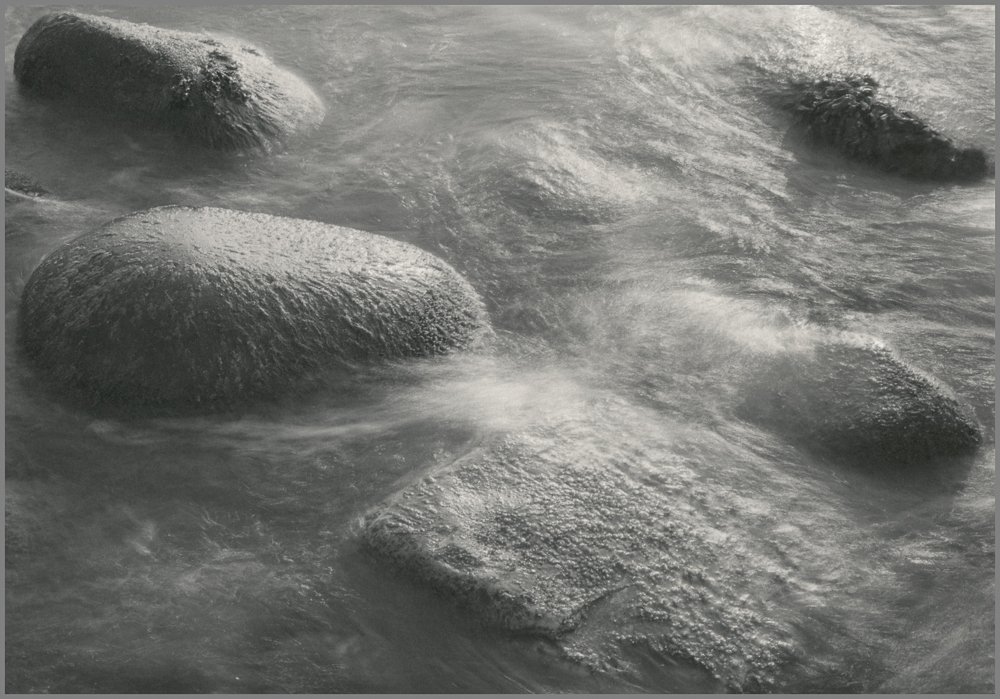
[[[432,471],[359,532],[376,559],[593,670],[639,647],[720,686],[774,688],[795,645],[773,609],[789,569],[716,497],[680,449],[599,406]]]

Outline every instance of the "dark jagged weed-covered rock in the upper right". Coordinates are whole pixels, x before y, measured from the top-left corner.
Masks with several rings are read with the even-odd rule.
[[[877,90],[867,75],[798,80],[785,106],[808,140],[886,172],[929,180],[993,174],[981,149],[959,148],[919,117],[878,100]]]

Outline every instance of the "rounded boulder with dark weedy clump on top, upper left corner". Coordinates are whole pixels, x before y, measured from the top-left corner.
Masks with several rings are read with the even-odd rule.
[[[30,94],[220,149],[267,149],[325,114],[308,85],[253,46],[73,12],[45,15],[28,29],[14,77]]]

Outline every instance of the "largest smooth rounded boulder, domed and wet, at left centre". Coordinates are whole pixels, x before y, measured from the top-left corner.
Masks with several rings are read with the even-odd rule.
[[[412,245],[316,221],[160,207],[56,250],[21,299],[42,375],[88,403],[173,412],[307,374],[466,348],[482,301]]]

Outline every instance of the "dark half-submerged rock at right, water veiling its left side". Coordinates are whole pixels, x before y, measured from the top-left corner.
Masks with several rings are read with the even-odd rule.
[[[915,464],[969,453],[982,441],[968,410],[876,343],[829,342],[785,355],[747,396],[742,418],[861,463]]]

